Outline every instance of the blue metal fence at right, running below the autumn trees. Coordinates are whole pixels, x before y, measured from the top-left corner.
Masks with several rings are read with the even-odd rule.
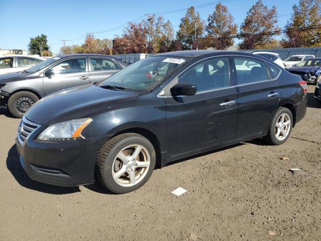
[[[279,54],[281,59],[286,59],[291,55],[297,54],[311,54],[315,57],[321,57],[321,47],[313,47],[313,48],[289,48],[289,49],[252,49],[252,50],[239,50],[242,52],[254,52],[254,51],[265,51],[265,52],[273,52]]]

